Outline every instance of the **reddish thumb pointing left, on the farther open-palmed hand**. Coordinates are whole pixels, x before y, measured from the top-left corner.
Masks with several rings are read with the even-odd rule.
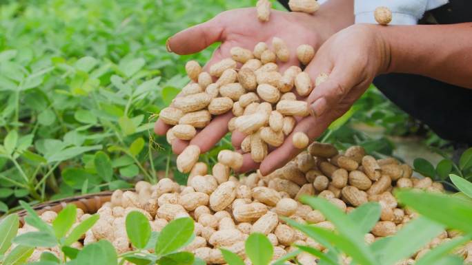
[[[217,41],[222,41],[224,28],[219,20],[215,17],[171,36],[166,42],[168,52],[194,54]]]

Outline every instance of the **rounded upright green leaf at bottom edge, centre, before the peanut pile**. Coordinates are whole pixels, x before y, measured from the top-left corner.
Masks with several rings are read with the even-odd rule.
[[[253,265],[268,265],[274,254],[274,248],[266,235],[252,233],[246,240],[246,255]]]

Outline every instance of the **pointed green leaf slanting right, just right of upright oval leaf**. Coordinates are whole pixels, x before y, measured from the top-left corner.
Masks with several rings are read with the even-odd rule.
[[[190,218],[177,218],[169,222],[159,234],[155,253],[166,255],[177,251],[192,237],[193,227],[193,220]]]

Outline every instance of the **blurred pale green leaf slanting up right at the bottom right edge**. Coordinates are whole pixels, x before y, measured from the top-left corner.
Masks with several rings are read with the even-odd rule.
[[[406,224],[386,244],[382,253],[382,265],[393,265],[411,257],[420,248],[444,231],[444,226],[424,217]],[[414,235],[414,236],[411,236]]]

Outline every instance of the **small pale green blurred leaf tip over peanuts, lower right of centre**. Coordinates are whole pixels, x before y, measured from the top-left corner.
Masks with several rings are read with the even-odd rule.
[[[368,202],[351,211],[348,217],[359,226],[362,233],[368,233],[379,220],[381,212],[380,204]]]

